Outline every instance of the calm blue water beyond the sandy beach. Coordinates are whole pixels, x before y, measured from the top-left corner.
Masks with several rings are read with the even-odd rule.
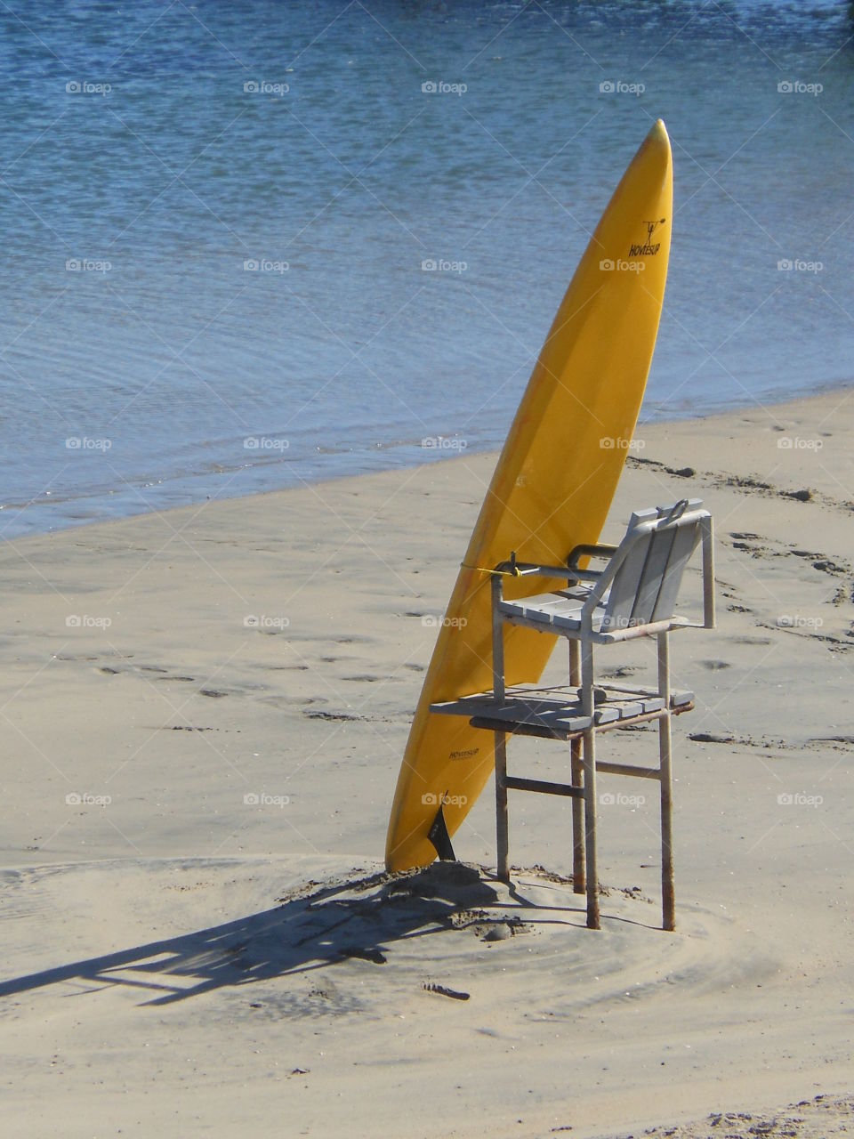
[[[643,416],[848,382],[853,34],[806,0],[3,6],[0,533],[499,445],[659,115]]]

